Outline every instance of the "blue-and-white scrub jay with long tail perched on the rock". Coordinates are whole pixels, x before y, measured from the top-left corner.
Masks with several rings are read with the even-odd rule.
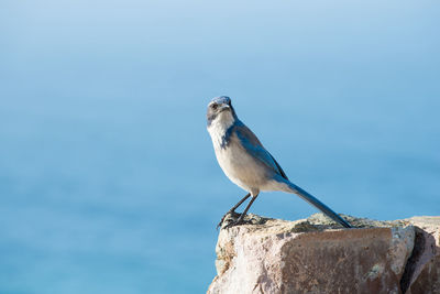
[[[221,227],[228,214],[235,213],[248,198],[248,206],[240,217],[224,229],[244,224],[244,216],[260,192],[280,190],[296,194],[344,228],[352,226],[315,196],[292,183],[278,162],[263,146],[256,135],[239,119],[231,98],[220,96],[208,104],[207,129],[212,140],[217,161],[229,179],[248,194],[220,220]]]

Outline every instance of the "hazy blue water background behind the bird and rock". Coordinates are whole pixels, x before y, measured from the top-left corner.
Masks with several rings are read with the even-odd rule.
[[[206,105],[229,95],[340,213],[440,214],[436,1],[0,3],[0,293],[202,293],[244,192]],[[262,194],[253,213],[316,210]]]

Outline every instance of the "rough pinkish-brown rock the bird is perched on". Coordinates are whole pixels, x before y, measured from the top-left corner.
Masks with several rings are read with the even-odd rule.
[[[440,293],[440,217],[344,218],[356,229],[321,214],[221,229],[208,293]]]

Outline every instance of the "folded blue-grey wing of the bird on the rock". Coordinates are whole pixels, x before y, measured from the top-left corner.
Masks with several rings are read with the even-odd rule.
[[[256,138],[256,135],[246,126],[244,126],[244,123],[237,123],[234,127],[234,131],[243,146],[246,149],[248,152],[251,153],[251,155],[253,155],[268,168],[273,170],[275,173],[288,179],[274,156],[268,153],[268,151],[260,142],[258,138]]]

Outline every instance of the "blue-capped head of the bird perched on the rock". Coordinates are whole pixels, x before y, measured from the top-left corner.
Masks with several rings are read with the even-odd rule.
[[[213,98],[208,105],[207,120],[208,127],[212,123],[232,124],[237,120],[237,115],[231,98],[227,96]]]

